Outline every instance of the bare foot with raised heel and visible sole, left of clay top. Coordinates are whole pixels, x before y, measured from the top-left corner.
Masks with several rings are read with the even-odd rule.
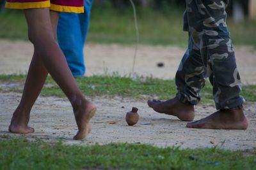
[[[95,112],[95,104],[89,101],[85,101],[82,106],[80,106],[77,110],[74,110],[78,127],[78,132],[76,136],[74,136],[75,140],[84,139],[92,131],[90,119],[95,115]]]

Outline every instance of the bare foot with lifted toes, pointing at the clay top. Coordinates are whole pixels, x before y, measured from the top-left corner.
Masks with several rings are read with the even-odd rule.
[[[149,100],[148,106],[158,113],[173,115],[182,121],[192,121],[195,117],[194,106],[180,102],[177,97],[163,102]]]

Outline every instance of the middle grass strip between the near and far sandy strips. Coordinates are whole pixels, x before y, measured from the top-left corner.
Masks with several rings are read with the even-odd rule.
[[[23,84],[26,75],[0,75],[0,84],[6,83],[21,83]],[[76,79],[79,87],[85,96],[122,96],[122,97],[136,97],[143,98],[159,97],[159,99],[170,99],[174,97],[177,90],[174,80],[160,80],[150,77],[137,77],[132,79],[130,77],[122,77],[118,75],[113,76],[90,76]],[[59,96],[64,97],[63,92],[58,85],[54,83],[51,77],[47,78],[45,82],[46,87],[42,90],[42,96]],[[4,88],[0,86],[0,92],[22,92],[20,88],[11,87]],[[246,101],[256,101],[256,85],[244,85],[242,96]],[[212,87],[207,81],[204,89],[201,92],[202,103],[212,102]]]

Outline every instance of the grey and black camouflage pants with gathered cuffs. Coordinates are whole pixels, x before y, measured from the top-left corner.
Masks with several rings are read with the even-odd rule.
[[[175,76],[179,101],[197,104],[209,77],[217,110],[244,103],[226,24],[227,4],[228,0],[186,0],[184,30],[189,32],[189,43]]]

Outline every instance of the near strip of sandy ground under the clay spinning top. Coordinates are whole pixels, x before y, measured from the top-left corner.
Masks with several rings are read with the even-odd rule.
[[[68,144],[92,145],[95,143],[145,143],[154,146],[181,146],[182,148],[199,148],[219,146],[221,148],[240,150],[256,146],[255,104],[246,104],[246,117],[250,126],[246,131],[189,129],[186,122],[177,118],[158,114],[148,108],[146,101],[134,99],[95,98],[98,111],[92,119],[93,132],[85,141],[73,141],[77,127],[72,108],[67,100],[58,97],[40,97],[31,112],[29,125],[35,127],[33,134],[19,135],[7,132],[12,112],[20,100],[20,94],[0,93],[0,134],[26,136],[28,139],[40,138],[44,141],[63,140]],[[132,106],[139,108],[140,121],[133,127],[125,122],[125,113]],[[206,117],[214,111],[213,106],[196,106],[196,117]],[[143,125],[150,123],[150,125]]]

